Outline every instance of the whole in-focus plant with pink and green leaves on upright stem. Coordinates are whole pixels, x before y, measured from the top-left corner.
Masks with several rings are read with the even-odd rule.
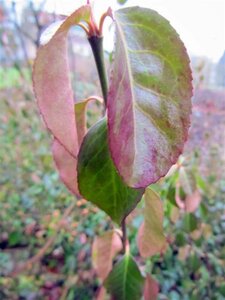
[[[102,28],[115,24],[115,49],[108,84]],[[103,100],[74,103],[67,35],[81,26],[93,50]],[[142,274],[129,252],[125,218],[144,198],[138,233],[142,257],[166,248],[163,207],[149,185],[177,161],[187,139],[191,71],[185,47],[169,22],[141,7],[111,9],[96,24],[87,3],[41,37],[33,83],[41,115],[53,135],[53,156],[62,181],[77,197],[104,210],[122,231],[106,232],[93,244],[93,264],[113,299],[151,299],[154,281]],[[105,116],[88,131],[86,105],[104,102]],[[113,266],[117,253],[123,253]],[[104,293],[104,290],[101,291]]]

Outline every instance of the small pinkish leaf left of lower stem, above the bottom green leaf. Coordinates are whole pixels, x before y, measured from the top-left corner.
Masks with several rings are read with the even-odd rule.
[[[111,271],[113,258],[121,249],[122,242],[115,231],[108,231],[95,238],[92,246],[92,263],[102,281]]]

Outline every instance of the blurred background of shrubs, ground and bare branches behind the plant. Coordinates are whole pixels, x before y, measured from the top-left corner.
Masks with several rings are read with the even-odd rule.
[[[46,12],[46,1],[26,3],[18,13],[16,2],[0,1],[0,299],[95,299],[99,281],[91,244],[112,224],[59,181],[31,70],[41,32],[62,16]],[[69,40],[75,99],[99,94],[85,36],[73,30]],[[191,63],[189,141],[173,171],[154,185],[164,203],[169,246],[147,262],[140,258],[142,203],[128,218],[128,235],[143,271],[160,283],[159,299],[225,299],[225,55],[217,64],[202,57]],[[93,104],[89,126],[98,117]],[[189,190],[194,208],[185,206]]]

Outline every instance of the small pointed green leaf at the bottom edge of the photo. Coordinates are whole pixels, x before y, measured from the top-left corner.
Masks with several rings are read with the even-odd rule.
[[[144,278],[133,257],[126,254],[116,263],[104,285],[113,299],[140,300]]]

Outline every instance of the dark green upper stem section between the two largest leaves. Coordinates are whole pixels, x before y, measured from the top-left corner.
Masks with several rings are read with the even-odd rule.
[[[95,63],[98,70],[98,76],[101,84],[103,99],[105,106],[107,103],[107,93],[108,93],[108,82],[105,69],[104,61],[104,51],[103,51],[103,37],[91,36],[88,38],[88,41],[91,45],[91,49],[95,58]]]

